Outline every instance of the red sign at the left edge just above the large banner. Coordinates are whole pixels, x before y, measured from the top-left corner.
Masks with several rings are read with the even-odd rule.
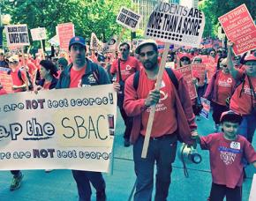
[[[0,67],[0,83],[7,93],[13,93],[12,91],[12,78],[10,75],[11,69]]]

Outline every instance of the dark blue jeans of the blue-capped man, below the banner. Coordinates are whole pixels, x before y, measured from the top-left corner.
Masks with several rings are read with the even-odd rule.
[[[72,175],[77,182],[79,201],[91,200],[92,190],[90,182],[93,184],[97,192],[105,190],[106,188],[102,173],[83,170],[72,170]]]

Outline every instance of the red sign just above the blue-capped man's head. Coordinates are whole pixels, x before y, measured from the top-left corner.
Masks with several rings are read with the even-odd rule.
[[[59,47],[67,50],[72,37],[75,36],[75,29],[72,22],[57,25]]]

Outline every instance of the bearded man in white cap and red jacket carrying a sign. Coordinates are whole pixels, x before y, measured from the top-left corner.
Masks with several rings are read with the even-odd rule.
[[[175,160],[178,136],[187,144],[192,144],[192,132],[196,132],[195,115],[187,85],[182,75],[173,71],[174,79],[163,72],[160,90],[155,89],[159,71],[158,50],[155,41],[143,41],[136,48],[143,67],[135,75],[127,78],[124,89],[124,110],[133,116],[131,142],[137,175],[134,200],[151,200],[154,184],[154,163],[157,173],[154,200],[167,200],[169,192],[171,164]],[[138,87],[134,78],[139,73]],[[147,158],[141,158],[150,107],[155,105],[154,121],[147,149]],[[184,129],[184,130],[183,130]]]

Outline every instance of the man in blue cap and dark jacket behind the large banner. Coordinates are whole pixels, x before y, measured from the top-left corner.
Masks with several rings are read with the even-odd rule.
[[[86,57],[86,41],[80,36],[75,36],[69,43],[70,56],[72,63],[62,71],[56,89],[75,88],[80,86],[97,86],[109,84],[107,72],[96,63],[93,63]],[[118,83],[113,87],[119,90]],[[79,201],[91,200],[90,182],[96,190],[96,201],[105,201],[105,181],[102,173],[90,172],[84,170],[72,170],[72,175],[77,182],[79,191]]]

